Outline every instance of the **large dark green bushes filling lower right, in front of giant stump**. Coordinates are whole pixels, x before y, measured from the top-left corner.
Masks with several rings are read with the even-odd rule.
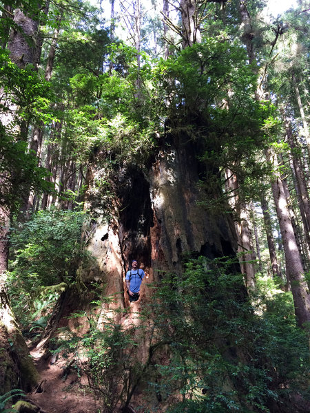
[[[269,412],[297,388],[307,396],[307,337],[291,296],[262,295],[254,308],[233,268],[228,257],[189,260],[182,277],[166,276],[156,291],[154,341],[168,343],[170,361],[156,364],[150,384],[169,412]],[[171,403],[176,393],[182,403]]]

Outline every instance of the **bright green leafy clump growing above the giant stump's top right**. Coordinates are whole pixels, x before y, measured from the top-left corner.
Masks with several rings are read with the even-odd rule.
[[[256,76],[245,64],[244,50],[216,37],[161,60],[154,76],[169,96],[169,116],[189,116],[187,120],[194,116],[209,121],[216,114],[216,103],[227,99],[228,88],[232,96],[229,105],[234,100],[240,105],[242,99],[249,102],[249,94],[256,87]]]

